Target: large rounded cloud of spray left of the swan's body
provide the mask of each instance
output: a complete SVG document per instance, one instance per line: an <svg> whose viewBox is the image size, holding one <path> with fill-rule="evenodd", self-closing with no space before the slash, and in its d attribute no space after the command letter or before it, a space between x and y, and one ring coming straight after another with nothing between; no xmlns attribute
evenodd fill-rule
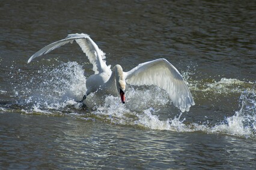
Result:
<svg viewBox="0 0 256 170"><path fill-rule="evenodd" d="M86 91L84 69L77 62L62 63L54 68L44 66L33 72L32 77L30 74L20 77L14 94L18 98L17 104L28 106L35 112L74 105ZM23 81L28 78L29 81Z"/></svg>

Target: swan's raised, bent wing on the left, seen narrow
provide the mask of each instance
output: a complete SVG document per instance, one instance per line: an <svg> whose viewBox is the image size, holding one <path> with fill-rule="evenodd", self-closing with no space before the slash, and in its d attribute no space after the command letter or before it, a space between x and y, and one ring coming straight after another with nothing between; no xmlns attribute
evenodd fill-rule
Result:
<svg viewBox="0 0 256 170"><path fill-rule="evenodd" d="M37 51L37 53L33 54L29 58L28 63L31 62L31 60L35 57L47 54L50 51L61 47L62 45L65 45L69 42L73 43L74 40L79 44L79 46L82 48L82 51L84 51L90 62L93 64L93 71L95 72L95 74L106 71L106 69L110 70L110 66L107 66L106 61L104 60L105 53L100 50L97 44L93 40L91 40L91 38L87 34L69 34L65 39L53 42L52 44L41 48L41 50Z"/></svg>

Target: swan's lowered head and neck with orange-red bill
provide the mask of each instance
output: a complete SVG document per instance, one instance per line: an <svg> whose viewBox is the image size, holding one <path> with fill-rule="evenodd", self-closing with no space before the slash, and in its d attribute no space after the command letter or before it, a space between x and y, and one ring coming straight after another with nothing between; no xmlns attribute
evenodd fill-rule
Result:
<svg viewBox="0 0 256 170"><path fill-rule="evenodd" d="M115 65L115 82L117 86L117 92L121 96L121 102L125 103L124 91L126 90L126 81L124 80L123 68L120 65Z"/></svg>

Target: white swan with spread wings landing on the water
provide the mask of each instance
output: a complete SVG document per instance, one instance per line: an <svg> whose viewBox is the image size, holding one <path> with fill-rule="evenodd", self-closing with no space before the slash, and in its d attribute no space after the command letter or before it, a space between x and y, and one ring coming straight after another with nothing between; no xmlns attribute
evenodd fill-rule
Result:
<svg viewBox="0 0 256 170"><path fill-rule="evenodd" d="M93 64L94 74L87 78L86 96L92 92L103 94L120 95L121 102L125 103L126 83L142 86L158 86L168 93L172 104L179 108L181 112L189 111L192 105L195 105L194 99L181 77L180 72L166 59L156 59L149 62L140 63L130 71L124 72L120 65L115 65L111 71L111 65L106 65L105 53L91 40L87 34L69 34L63 40L53 42L46 47L41 48L33 54L28 63L35 57L47 54L55 48L61 47L67 43L76 41L86 54L91 64Z"/></svg>

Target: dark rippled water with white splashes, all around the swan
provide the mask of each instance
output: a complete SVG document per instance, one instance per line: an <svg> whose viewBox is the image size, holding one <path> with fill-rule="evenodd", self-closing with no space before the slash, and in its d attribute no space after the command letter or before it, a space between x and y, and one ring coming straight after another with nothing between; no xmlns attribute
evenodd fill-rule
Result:
<svg viewBox="0 0 256 170"><path fill-rule="evenodd" d="M1 1L1 169L252 169L256 159L254 1ZM195 106L183 113L156 87L82 99L93 73L67 44L86 33L129 71L164 57Z"/></svg>

